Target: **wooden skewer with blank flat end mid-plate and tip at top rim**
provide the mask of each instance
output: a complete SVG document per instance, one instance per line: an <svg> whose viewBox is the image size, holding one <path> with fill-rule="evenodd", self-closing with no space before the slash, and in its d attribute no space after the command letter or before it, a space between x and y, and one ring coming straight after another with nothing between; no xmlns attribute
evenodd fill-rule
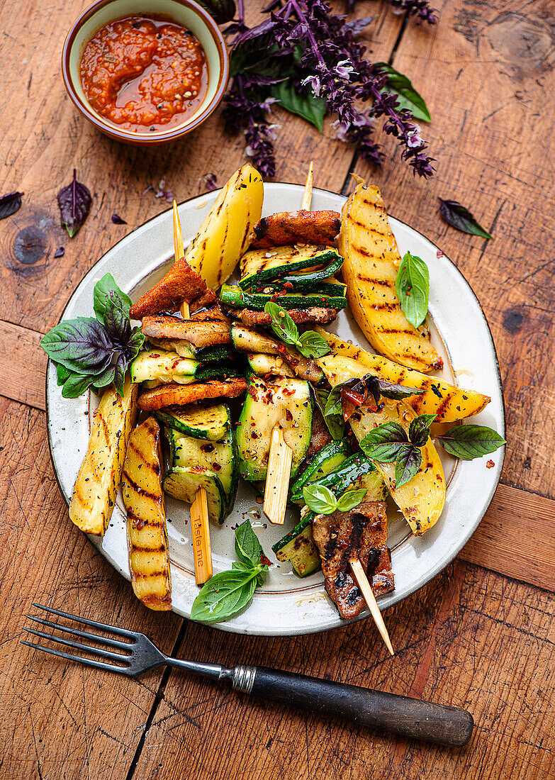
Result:
<svg viewBox="0 0 555 780"><path fill-rule="evenodd" d="M308 176L306 176L305 192L302 196L301 208L309 211L312 201L314 164L311 161ZM291 477L291 464L293 451L283 438L283 431L279 425L274 426L270 441L270 456L268 457L268 470L266 487L264 488L264 514L270 519L270 523L283 525L285 520L285 508L287 506L287 494L289 477Z"/></svg>

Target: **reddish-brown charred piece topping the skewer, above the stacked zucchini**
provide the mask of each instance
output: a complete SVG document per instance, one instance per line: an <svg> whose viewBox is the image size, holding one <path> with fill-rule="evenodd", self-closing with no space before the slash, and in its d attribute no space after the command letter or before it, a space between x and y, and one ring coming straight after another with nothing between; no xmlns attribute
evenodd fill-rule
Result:
<svg viewBox="0 0 555 780"><path fill-rule="evenodd" d="M341 215L337 211L281 211L256 223L249 249L297 243L330 246L340 229Z"/></svg>

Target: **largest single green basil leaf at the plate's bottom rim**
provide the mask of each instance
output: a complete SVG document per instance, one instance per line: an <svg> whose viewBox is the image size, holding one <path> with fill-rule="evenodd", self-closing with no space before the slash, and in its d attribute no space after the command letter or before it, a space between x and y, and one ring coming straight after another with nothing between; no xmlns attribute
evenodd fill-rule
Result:
<svg viewBox="0 0 555 780"><path fill-rule="evenodd" d="M258 573L259 568L237 568L210 577L193 601L191 619L211 622L236 615L253 597Z"/></svg>

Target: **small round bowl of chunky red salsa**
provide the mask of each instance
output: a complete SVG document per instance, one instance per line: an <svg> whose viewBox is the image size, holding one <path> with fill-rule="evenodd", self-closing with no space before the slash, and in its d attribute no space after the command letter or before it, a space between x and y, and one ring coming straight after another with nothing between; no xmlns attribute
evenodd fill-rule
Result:
<svg viewBox="0 0 555 780"><path fill-rule="evenodd" d="M65 87L111 137L160 144L197 127L221 101L228 55L193 0L101 0L65 41Z"/></svg>

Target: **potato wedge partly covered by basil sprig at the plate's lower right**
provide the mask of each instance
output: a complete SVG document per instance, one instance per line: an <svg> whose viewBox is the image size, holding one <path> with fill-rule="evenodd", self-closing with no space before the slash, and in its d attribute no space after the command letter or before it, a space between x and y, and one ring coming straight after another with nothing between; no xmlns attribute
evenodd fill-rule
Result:
<svg viewBox="0 0 555 780"><path fill-rule="evenodd" d="M416 417L405 401L384 399L384 407L373 412L369 406L360 406L349 418L356 438L361 441L369 431L384 423L400 424L408 432L408 426ZM445 503L445 475L440 456L429 438L422 448L419 470L401 488L395 488L395 464L373 461L384 477L391 498L405 516L415 536L422 536L440 518Z"/></svg>

